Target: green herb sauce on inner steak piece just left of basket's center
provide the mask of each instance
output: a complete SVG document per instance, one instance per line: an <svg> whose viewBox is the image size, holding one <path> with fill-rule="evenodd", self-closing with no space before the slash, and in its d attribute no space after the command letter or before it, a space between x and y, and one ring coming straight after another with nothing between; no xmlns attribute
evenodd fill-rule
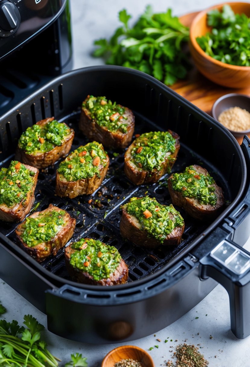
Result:
<svg viewBox="0 0 250 367"><path fill-rule="evenodd" d="M100 163L95 166L96 157ZM100 177L100 166L107 165L107 156L102 144L93 141L80 146L59 164L58 173L62 174L67 181L77 181L97 175Z"/></svg>

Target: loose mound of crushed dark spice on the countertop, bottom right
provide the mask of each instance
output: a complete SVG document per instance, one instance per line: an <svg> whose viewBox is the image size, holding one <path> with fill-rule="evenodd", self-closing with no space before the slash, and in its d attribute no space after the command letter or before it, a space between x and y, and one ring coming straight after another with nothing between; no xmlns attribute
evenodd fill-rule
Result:
<svg viewBox="0 0 250 367"><path fill-rule="evenodd" d="M167 367L207 367L209 364L194 345L177 345L174 357L177 359L175 363L168 361L166 363Z"/></svg>

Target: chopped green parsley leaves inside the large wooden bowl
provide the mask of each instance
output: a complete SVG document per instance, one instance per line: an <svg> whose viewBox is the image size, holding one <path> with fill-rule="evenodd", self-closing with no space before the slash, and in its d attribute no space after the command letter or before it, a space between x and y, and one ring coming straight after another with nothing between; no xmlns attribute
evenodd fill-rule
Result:
<svg viewBox="0 0 250 367"><path fill-rule="evenodd" d="M196 41L207 55L231 65L250 66L250 18L234 14L229 5L207 13L212 32Z"/></svg>

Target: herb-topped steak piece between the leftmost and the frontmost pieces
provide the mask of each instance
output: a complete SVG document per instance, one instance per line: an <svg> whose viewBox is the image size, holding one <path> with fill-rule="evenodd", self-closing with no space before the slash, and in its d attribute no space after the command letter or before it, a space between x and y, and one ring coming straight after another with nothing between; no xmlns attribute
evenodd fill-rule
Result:
<svg viewBox="0 0 250 367"><path fill-rule="evenodd" d="M56 255L72 237L76 219L52 204L37 211L16 228L16 236L23 249L38 262Z"/></svg>

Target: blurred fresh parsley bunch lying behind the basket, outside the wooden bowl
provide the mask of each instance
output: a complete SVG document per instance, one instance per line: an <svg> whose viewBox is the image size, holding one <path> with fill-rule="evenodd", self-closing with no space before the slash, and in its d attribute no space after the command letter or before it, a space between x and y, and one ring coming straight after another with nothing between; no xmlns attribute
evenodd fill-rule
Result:
<svg viewBox="0 0 250 367"><path fill-rule="evenodd" d="M188 40L189 30L172 16L171 9L153 14L151 6L147 6L132 28L128 25L130 18L125 9L121 10L122 26L109 41L96 40L95 45L99 48L93 55L103 57L107 64L153 75L166 85L184 78L189 64L182 46Z"/></svg>

